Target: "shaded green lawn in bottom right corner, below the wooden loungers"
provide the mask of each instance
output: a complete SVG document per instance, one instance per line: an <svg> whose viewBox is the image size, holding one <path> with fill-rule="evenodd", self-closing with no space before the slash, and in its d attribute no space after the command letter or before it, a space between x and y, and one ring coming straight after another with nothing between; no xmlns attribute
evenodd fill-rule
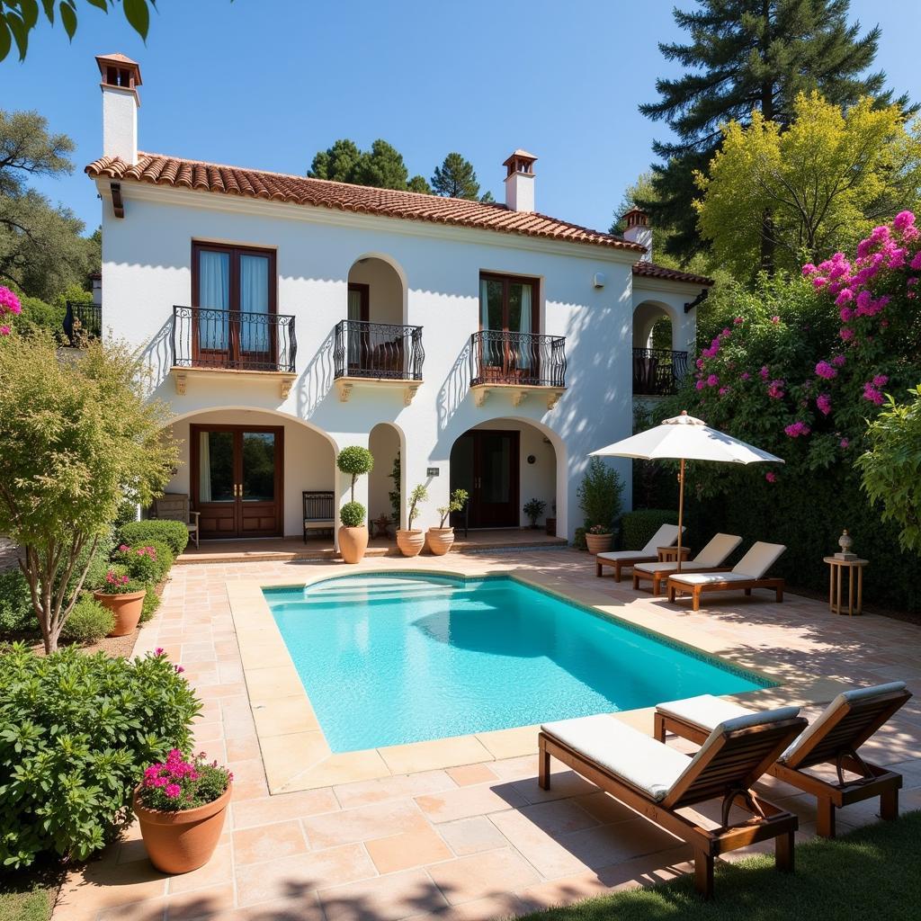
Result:
<svg viewBox="0 0 921 921"><path fill-rule="evenodd" d="M773 857L717 868L716 899L703 902L690 876L650 889L617 892L528 921L837 921L921 917L921 812L880 822L835 841L798 845L792 876Z"/></svg>

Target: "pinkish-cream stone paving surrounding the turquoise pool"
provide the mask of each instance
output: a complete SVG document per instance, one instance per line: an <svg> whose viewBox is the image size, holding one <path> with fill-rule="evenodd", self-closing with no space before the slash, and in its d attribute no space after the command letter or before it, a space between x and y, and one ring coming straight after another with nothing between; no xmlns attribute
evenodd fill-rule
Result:
<svg viewBox="0 0 921 921"><path fill-rule="evenodd" d="M496 748L476 764L406 774L331 778L331 786L269 794L227 583L303 581L318 568L338 575L393 568L304 562L177 566L157 619L135 651L164 647L204 701L196 741L227 761L234 799L215 856L184 876L157 873L136 827L70 875L54 921L477 921L521 914L689 869L689 850L670 834L554 764L550 791L537 787L531 753ZM725 593L693 613L594 577L586 554L551 550L450 554L402 561L401 569L477 574L515 568L575 597L602 593L606 610L753 668L764 662L784 684L764 704L807 704L814 717L846 684L903 679L921 686L921 629L787 595L744 600ZM237 614L239 618L239 612ZM650 711L624 717L651 733ZM528 743L530 744L530 743ZM678 744L678 743L676 743ZM533 742L536 750L536 739ZM904 774L903 810L921 808L921 697L863 750ZM772 778L763 793L796 812L799 836L814 833L810 798ZM839 813L838 828L877 821L877 802Z"/></svg>

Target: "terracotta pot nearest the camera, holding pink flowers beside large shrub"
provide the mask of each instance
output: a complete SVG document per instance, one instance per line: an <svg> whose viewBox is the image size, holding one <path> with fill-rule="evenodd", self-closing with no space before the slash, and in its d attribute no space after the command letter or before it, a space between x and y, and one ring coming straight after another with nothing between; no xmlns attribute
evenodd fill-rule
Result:
<svg viewBox="0 0 921 921"><path fill-rule="evenodd" d="M141 823L150 862L164 873L188 873L204 867L224 830L232 789L231 782L214 802L196 809L161 812L142 806L137 798L140 787L135 787L132 808Z"/></svg>

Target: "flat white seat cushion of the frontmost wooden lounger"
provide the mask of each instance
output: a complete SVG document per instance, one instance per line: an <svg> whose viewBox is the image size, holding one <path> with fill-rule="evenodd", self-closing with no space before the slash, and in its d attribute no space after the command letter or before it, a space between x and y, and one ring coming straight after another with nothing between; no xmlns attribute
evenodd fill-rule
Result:
<svg viewBox="0 0 921 921"><path fill-rule="evenodd" d="M691 764L686 754L604 715L545 723L541 729L621 777L653 802L664 799Z"/></svg>

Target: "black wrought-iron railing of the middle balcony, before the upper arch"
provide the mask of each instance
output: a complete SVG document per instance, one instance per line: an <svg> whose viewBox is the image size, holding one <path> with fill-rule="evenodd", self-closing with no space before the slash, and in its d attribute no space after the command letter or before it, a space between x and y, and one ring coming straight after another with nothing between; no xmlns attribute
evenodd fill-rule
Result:
<svg viewBox="0 0 921 921"><path fill-rule="evenodd" d="M422 327L341 320L332 345L336 378L422 380Z"/></svg>

